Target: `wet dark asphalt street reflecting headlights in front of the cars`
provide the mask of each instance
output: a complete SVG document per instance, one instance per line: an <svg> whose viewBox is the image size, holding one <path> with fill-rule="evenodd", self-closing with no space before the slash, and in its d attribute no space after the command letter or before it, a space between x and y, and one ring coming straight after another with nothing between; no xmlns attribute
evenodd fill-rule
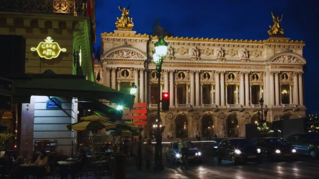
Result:
<svg viewBox="0 0 319 179"><path fill-rule="evenodd" d="M210 143L194 143L202 152L203 162L192 162L189 170L180 169L177 164L167 162L165 157L166 148L163 149L163 164L165 167L174 169L181 178L190 179L318 179L319 160L308 156L299 156L297 161L270 162L267 159L261 164L246 163L232 165L229 161L218 164L216 157L211 152Z"/></svg>

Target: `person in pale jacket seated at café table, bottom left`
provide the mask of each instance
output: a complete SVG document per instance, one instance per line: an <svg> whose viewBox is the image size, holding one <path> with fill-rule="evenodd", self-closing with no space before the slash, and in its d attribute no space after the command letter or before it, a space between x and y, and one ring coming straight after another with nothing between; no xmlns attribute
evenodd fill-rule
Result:
<svg viewBox="0 0 319 179"><path fill-rule="evenodd" d="M41 151L39 153L39 157L34 162L37 164L36 168L34 169L34 175L38 179L42 179L44 176L47 175L47 173L50 172L50 166L49 166L49 158L46 156L45 151Z"/></svg>

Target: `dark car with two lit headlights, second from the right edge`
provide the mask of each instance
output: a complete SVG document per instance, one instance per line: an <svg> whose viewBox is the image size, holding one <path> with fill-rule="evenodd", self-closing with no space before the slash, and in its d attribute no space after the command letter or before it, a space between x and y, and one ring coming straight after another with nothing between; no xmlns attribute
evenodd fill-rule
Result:
<svg viewBox="0 0 319 179"><path fill-rule="evenodd" d="M283 160L284 158L296 160L297 158L296 149L280 138L256 138L251 140L251 143L255 144L257 150L261 150L263 157L270 161Z"/></svg>

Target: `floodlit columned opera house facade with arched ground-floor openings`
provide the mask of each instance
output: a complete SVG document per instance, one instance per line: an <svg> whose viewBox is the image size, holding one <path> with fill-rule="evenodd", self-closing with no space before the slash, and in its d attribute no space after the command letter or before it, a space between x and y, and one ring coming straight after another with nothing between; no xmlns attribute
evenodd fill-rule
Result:
<svg viewBox="0 0 319 179"><path fill-rule="evenodd" d="M102 33L103 54L95 65L103 85L128 91L135 82L136 103L148 104L146 136L157 118L158 90L170 93L170 110L161 112L163 136L244 137L245 124L258 120L261 97L267 121L305 116L303 41L280 35L266 40L165 37L169 46L158 89L152 62L157 40L121 28Z"/></svg>

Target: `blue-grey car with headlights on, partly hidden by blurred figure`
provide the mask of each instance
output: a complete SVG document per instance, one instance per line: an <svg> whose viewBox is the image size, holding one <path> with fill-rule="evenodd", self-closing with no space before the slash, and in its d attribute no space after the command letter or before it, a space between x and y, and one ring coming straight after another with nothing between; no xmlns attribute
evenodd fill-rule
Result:
<svg viewBox="0 0 319 179"><path fill-rule="evenodd" d="M202 153L195 147L191 141L184 141L188 146L188 160L202 162ZM166 158L167 161L180 162L181 154L178 150L179 142L171 142L166 148Z"/></svg>

